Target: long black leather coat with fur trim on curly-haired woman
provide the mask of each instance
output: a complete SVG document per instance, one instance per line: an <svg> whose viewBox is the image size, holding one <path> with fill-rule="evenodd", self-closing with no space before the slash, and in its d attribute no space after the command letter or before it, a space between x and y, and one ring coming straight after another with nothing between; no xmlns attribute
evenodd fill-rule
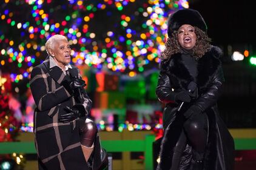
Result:
<svg viewBox="0 0 256 170"><path fill-rule="evenodd" d="M221 67L221 50L212 47L198 59L198 75L192 77L181 59L181 54L173 54L169 60L162 60L158 78L157 96L166 103L164 108L164 136L161 142L160 163L157 169L170 169L173 147L176 145L183 128L184 111L191 105L197 105L208 117L208 138L204 158L204 170L231 170L234 167L234 140L218 115L217 100L221 94L224 77ZM177 112L178 103L174 102L175 94L187 90L191 81L197 83L198 97L184 105ZM188 169L191 159L191 147L184 149L180 169Z"/></svg>

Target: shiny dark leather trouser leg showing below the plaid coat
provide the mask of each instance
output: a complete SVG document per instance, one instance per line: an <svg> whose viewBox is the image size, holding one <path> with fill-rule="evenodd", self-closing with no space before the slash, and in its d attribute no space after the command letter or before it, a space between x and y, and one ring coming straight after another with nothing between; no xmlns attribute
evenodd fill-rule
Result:
<svg viewBox="0 0 256 170"><path fill-rule="evenodd" d="M93 145L93 142L96 136L97 126L93 122L93 120L89 118L79 119L78 124L79 124L81 145L90 148Z"/></svg>

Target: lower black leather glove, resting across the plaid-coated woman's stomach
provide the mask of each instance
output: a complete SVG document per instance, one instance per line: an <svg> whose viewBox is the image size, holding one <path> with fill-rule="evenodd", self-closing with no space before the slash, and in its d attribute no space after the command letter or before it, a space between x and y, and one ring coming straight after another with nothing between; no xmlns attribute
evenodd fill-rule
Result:
<svg viewBox="0 0 256 170"><path fill-rule="evenodd" d="M87 116L86 109L82 104L76 104L72 108L70 108L69 106L66 106L64 110L67 111L67 114L62 114L59 117L59 122L62 122L62 123L72 122L78 117Z"/></svg>

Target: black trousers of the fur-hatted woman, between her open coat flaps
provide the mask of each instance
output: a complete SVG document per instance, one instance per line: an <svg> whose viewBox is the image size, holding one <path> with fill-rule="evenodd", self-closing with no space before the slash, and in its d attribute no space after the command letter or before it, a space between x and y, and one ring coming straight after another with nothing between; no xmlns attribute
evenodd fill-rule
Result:
<svg viewBox="0 0 256 170"><path fill-rule="evenodd" d="M180 138L173 149L172 168L179 169L180 158L187 143L192 146L192 159L195 161L203 161L204 152L207 143L207 116L199 114L192 116L191 119L184 122L183 130Z"/></svg>

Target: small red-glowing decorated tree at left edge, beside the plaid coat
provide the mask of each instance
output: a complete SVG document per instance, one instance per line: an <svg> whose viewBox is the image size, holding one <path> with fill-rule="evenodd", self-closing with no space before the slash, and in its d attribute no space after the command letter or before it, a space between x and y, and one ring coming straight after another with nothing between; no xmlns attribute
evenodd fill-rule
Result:
<svg viewBox="0 0 256 170"><path fill-rule="evenodd" d="M13 106L12 86L8 74L2 76L0 71L0 142L14 142L18 136L20 122L16 119ZM22 169L24 158L22 155L0 155L0 169Z"/></svg>

